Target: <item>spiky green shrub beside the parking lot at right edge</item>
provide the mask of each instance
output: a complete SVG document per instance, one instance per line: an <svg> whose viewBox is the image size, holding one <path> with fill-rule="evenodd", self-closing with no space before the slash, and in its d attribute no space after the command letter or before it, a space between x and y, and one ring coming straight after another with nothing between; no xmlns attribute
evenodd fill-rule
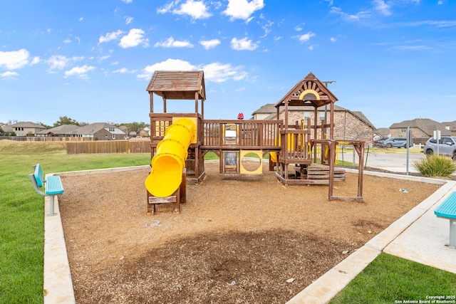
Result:
<svg viewBox="0 0 456 304"><path fill-rule="evenodd" d="M429 155L413 165L425 177L449 177L456 172L456 162L437 154Z"/></svg>

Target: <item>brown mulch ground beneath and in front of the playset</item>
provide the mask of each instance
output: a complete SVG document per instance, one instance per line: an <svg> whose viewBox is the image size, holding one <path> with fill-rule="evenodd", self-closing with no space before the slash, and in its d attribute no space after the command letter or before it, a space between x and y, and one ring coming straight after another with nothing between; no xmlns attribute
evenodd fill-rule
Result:
<svg viewBox="0 0 456 304"><path fill-rule="evenodd" d="M147 214L146 170L62 178L77 303L285 303L440 187L365 174L362 202L328 201L327 186L266 168L233 180L205 167L180 214ZM334 195L356 196L357 178Z"/></svg>

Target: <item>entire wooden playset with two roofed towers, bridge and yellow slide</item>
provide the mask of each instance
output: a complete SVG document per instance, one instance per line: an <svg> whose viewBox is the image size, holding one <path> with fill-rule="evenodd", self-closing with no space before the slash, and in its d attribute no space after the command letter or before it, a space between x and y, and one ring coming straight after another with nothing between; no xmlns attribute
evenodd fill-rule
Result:
<svg viewBox="0 0 456 304"><path fill-rule="evenodd" d="M219 174L253 177L262 174L263 157L269 153L269 170L283 184L328 184L328 199L362 201L363 166L358 169L356 196L333 196L334 181L345 180L345 170L336 168L338 145L352 145L363 164L364 142L333 139L333 104L337 98L314 74L309 73L276 103L276 120L204 120L206 100L204 72L160 71L152 75L150 95L151 172L145 181L147 209L173 203L179 211L184 203L186 182L204 179L204 155L219 157ZM153 95L163 101L163 112L154 112ZM167 100L195 100L193 113L167 112ZM289 107L313 106L309 118L289 124ZM317 109L329 106L329 123L318 124ZM280 117L283 117L280 119ZM327 132L328 131L328 132ZM244 166L254 155L259 166Z"/></svg>

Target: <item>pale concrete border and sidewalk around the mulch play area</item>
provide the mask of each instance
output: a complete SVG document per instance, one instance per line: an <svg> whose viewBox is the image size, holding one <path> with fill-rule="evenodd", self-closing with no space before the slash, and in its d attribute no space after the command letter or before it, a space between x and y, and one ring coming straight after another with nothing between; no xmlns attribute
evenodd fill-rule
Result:
<svg viewBox="0 0 456 304"><path fill-rule="evenodd" d="M149 170L150 166L98 169L81 172L65 172L59 175L88 175L126 170ZM350 169L347 169L350 171ZM357 171L356 171L357 172ZM417 182L442 184L434 194L415 206L407 214L388 226L387 229L368 241L363 247L351 253L346 259L314 281L307 288L289 300L296 303L327 303L341 291L381 252L400 256L411 261L456 273L456 250L445 247L449 240L449 221L437 219L434 210L451 193L456 191L456 182L403 174L366 172L381 177L410 179ZM61 224L58 200L56 216L48 216L49 200L45 199L44 219L44 304L76 303L71 281L70 267L66 253L65 239Z"/></svg>

